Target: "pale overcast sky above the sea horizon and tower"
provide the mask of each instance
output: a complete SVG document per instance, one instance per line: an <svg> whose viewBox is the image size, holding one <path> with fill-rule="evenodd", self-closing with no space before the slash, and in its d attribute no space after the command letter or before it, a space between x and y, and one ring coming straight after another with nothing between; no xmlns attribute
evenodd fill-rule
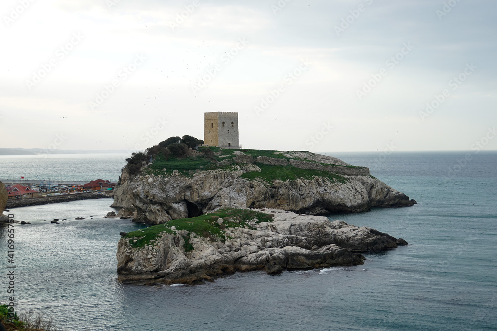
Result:
<svg viewBox="0 0 497 331"><path fill-rule="evenodd" d="M2 0L0 147L497 150L495 0Z"/></svg>

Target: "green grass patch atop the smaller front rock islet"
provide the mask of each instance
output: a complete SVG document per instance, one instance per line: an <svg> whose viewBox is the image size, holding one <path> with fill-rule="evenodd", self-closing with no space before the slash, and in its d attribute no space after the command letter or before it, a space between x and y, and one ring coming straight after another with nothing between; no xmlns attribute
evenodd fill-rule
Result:
<svg viewBox="0 0 497 331"><path fill-rule="evenodd" d="M223 224L217 222L218 218L223 219ZM152 239L160 237L164 232L175 233L172 230L174 226L176 230L186 230L199 237L210 238L212 240L220 239L224 242L226 240L225 229L245 226L250 228L246 222L253 219L257 219L257 223L270 222L272 221L272 216L251 209L223 208L214 213L192 218L173 219L164 224L129 232L125 238L129 238L129 243L132 247L144 247L145 245L149 245ZM134 242L135 240L136 242ZM184 247L185 251L193 250L189 238L185 239Z"/></svg>

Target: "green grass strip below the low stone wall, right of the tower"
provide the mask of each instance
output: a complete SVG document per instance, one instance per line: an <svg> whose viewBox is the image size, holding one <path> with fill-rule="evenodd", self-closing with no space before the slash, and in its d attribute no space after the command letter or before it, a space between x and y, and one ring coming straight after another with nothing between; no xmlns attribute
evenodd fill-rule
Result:
<svg viewBox="0 0 497 331"><path fill-rule="evenodd" d="M273 183L275 180L287 181L295 180L297 178L313 179L316 176L328 178L331 182L345 183L346 178L339 175L330 173L327 170L312 170L312 169L300 169L292 165L281 166L281 165L268 165L257 163L257 166L261 171L250 171L242 174L240 177L255 180L260 178L267 183Z"/></svg>

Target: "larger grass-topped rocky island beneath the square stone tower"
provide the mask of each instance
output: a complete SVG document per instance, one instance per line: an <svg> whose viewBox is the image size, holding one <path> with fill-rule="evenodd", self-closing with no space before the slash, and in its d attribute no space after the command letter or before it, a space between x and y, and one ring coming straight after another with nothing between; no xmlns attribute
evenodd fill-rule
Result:
<svg viewBox="0 0 497 331"><path fill-rule="evenodd" d="M366 167L310 152L203 147L184 159L134 158L122 171L112 207L121 208L119 216L146 224L221 207L323 215L415 203Z"/></svg>

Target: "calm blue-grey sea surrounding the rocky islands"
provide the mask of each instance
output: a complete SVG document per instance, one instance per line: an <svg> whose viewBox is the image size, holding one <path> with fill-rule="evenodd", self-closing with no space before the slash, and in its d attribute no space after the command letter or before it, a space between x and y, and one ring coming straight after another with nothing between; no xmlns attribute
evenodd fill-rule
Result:
<svg viewBox="0 0 497 331"><path fill-rule="evenodd" d="M112 210L108 198L12 209L32 224L15 227L14 264L7 263L0 229L0 268L5 274L7 265L17 267L18 310L52 316L59 330L497 330L497 153L470 153L470 161L458 163L465 154L333 154L370 166L372 175L418 202L330 216L409 242L366 255L364 265L237 273L201 286L122 285L119 232L143 226L104 219ZM124 162L111 159L57 156L39 172L114 179ZM28 174L31 162L36 156L0 156L0 178ZM58 168L61 162L71 171ZM49 224L53 218L68 221Z"/></svg>

